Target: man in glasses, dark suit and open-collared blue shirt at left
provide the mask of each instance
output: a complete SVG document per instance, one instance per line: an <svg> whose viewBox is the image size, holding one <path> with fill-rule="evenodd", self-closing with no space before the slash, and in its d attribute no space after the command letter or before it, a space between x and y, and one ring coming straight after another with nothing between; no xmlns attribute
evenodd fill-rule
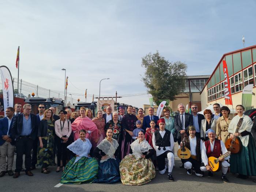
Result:
<svg viewBox="0 0 256 192"><path fill-rule="evenodd" d="M23 164L23 153L25 152L25 172L28 176L33 176L31 172L31 150L33 140L37 137L38 122L37 117L31 114L31 105L23 105L23 113L14 116L11 128L12 139L16 139L16 169L14 178L19 177Z"/></svg>

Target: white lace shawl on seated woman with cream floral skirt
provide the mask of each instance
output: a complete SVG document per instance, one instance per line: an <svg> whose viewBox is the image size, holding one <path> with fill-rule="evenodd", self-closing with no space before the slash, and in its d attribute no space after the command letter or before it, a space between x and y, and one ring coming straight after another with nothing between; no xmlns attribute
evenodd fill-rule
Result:
<svg viewBox="0 0 256 192"><path fill-rule="evenodd" d="M132 149L132 155L134 155L136 159L139 159L141 155L143 155L142 153L152 149L146 139L144 139L142 142L140 142L139 139L136 139L134 142L132 142L132 144L130 144L130 146Z"/></svg>

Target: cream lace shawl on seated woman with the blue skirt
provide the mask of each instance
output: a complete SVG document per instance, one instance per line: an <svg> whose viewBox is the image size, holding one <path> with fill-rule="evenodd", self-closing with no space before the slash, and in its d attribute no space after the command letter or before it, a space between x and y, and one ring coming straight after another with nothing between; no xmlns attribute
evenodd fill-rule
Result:
<svg viewBox="0 0 256 192"><path fill-rule="evenodd" d="M108 141L108 139L103 139L102 142L98 144L98 148L102 150L106 155L108 155L107 159L102 159L101 162L107 161L108 159L116 159L114 154L119 146L116 139L112 139L112 143Z"/></svg>

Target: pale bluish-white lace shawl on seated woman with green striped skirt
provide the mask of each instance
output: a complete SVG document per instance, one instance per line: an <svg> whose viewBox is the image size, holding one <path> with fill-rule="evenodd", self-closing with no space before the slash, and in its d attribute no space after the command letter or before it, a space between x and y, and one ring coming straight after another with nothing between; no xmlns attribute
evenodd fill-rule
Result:
<svg viewBox="0 0 256 192"><path fill-rule="evenodd" d="M82 157L88 157L91 149L91 142L89 141L89 139L85 139L85 141L78 139L75 142L71 143L67 148L76 155L79 155L78 157L76 157L76 160L74 162L76 163Z"/></svg>

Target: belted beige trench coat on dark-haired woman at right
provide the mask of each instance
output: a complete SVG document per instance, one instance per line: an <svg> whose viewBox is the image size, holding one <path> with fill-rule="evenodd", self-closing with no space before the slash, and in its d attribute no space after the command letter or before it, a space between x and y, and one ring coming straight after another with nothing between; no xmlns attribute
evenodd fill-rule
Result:
<svg viewBox="0 0 256 192"><path fill-rule="evenodd" d="M217 120L217 128L216 128L216 134L217 137L221 137L221 140L223 143L225 143L229 139L229 123L231 122L231 118L228 118L227 121L225 121L224 116L221 116Z"/></svg>

